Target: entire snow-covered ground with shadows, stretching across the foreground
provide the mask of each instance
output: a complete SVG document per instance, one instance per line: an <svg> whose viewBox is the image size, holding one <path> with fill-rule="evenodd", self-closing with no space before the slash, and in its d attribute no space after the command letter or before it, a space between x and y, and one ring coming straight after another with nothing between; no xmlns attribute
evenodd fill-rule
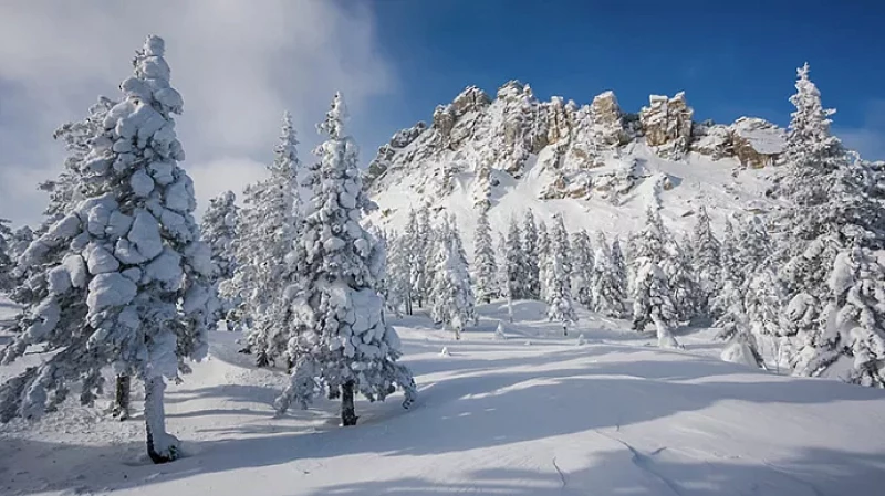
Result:
<svg viewBox="0 0 885 496"><path fill-rule="evenodd" d="M0 304L0 320L11 307ZM419 402L336 404L273 418L284 377L216 333L210 359L169 388L187 456L155 466L140 416L65 405L0 426L0 494L877 495L885 393L720 361L710 331L658 350L650 334L581 313L573 335L543 307L480 307L464 340L420 315L395 319ZM509 339L494 338L498 318ZM577 334L585 345L579 346ZM2 338L0 338L2 340ZM440 355L446 347L449 356ZM28 357L37 359L35 357ZM0 379L11 369L0 367ZM140 398L136 394L136 400Z"/></svg>

